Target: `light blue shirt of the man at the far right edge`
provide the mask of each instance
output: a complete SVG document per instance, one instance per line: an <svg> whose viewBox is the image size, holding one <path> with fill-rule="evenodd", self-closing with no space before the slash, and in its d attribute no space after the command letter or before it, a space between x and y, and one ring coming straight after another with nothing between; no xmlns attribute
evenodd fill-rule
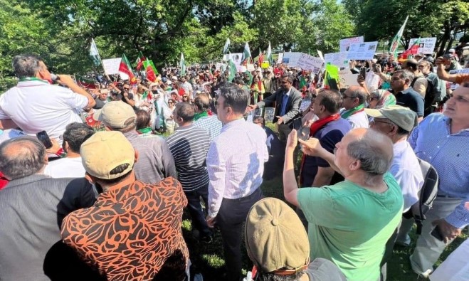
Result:
<svg viewBox="0 0 469 281"><path fill-rule="evenodd" d="M438 194L461 198L446 221L456 228L468 226L469 211L464 203L469 201L469 129L451 134L450 118L433 113L413 129L409 143L418 158L438 171Z"/></svg>

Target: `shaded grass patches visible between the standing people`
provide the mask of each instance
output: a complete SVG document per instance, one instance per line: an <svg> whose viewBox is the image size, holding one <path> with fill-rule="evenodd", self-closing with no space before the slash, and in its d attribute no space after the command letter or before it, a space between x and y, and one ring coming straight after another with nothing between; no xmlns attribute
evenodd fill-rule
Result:
<svg viewBox="0 0 469 281"><path fill-rule="evenodd" d="M270 129L277 132L273 124L268 124ZM300 159L300 158L299 158ZM281 172L279 176L275 177L270 181L263 181L260 188L263 191L265 197L275 197L281 200L283 198L283 183ZM210 244L199 243L199 240L194 238L194 235L198 235L196 230L194 231L191 227L191 221L189 213L184 212L184 221L182 223L183 235L186 240L187 246L189 247L189 253L191 257L191 263L196 267L196 272L200 272L204 276L205 281L221 280L223 272L225 272L223 266L225 262L223 260L223 245L221 235L219 232L214 233L214 241ZM413 252L416 245L416 233L415 228L411 231L412 243L410 247L403 248L396 245L393 250L391 260L387 265L387 280L389 281L413 281L419 280L418 276L411 270L409 263L409 256ZM440 265L448 255L458 247L465 239L469 238L467 233L457 238L451 245L449 245L440 257L440 260L436 265ZM246 275L248 270L251 270L252 263L246 254L244 248L244 242L241 245L241 251L243 253L243 273Z"/></svg>

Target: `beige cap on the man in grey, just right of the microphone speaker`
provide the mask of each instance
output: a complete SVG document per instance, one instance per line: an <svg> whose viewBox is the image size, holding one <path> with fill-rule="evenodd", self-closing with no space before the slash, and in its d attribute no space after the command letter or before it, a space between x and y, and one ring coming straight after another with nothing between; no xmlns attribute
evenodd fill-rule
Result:
<svg viewBox="0 0 469 281"><path fill-rule="evenodd" d="M112 129L123 129L135 124L137 115L134 109L122 101L107 102L95 120L103 122Z"/></svg>

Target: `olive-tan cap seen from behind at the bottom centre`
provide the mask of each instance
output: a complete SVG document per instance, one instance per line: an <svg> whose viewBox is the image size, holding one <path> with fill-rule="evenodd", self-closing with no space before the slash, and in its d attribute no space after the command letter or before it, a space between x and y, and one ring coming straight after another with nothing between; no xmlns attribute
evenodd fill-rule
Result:
<svg viewBox="0 0 469 281"><path fill-rule="evenodd" d="M263 272L295 274L310 262L305 227L295 211L277 198L264 198L251 207L245 231L248 256Z"/></svg>

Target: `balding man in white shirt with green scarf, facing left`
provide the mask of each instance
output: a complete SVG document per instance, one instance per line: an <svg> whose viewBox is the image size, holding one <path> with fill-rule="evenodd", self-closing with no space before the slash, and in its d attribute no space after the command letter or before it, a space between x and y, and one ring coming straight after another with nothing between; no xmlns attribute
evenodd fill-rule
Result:
<svg viewBox="0 0 469 281"><path fill-rule="evenodd" d="M368 117L364 112L367 91L360 86L350 86L342 95L343 102L340 117L347 119L354 128L367 128Z"/></svg>

